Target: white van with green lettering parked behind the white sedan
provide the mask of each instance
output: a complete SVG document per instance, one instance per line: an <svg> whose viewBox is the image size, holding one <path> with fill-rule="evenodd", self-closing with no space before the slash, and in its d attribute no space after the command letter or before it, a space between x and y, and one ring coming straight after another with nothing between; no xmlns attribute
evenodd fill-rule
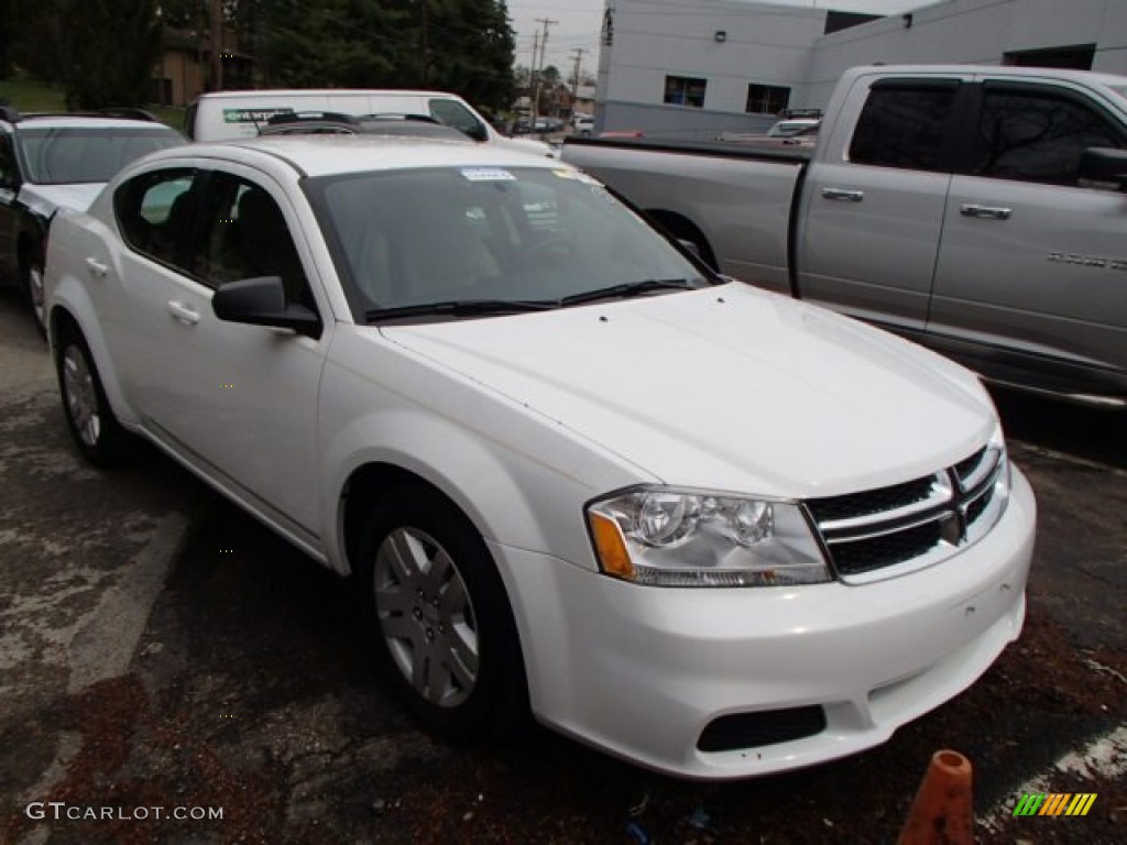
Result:
<svg viewBox="0 0 1127 845"><path fill-rule="evenodd" d="M184 133L193 141L254 137L274 115L294 112L336 112L346 115L427 115L461 130L474 141L540 155L552 149L532 139L509 139L497 132L469 103L445 91L399 89L266 89L204 94L188 106Z"/></svg>

